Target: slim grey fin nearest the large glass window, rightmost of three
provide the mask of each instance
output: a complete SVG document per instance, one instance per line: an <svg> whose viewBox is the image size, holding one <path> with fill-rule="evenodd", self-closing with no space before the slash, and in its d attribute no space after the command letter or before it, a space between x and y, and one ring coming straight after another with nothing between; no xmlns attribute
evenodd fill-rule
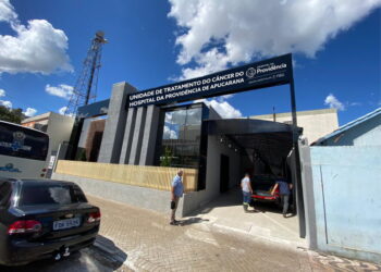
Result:
<svg viewBox="0 0 381 272"><path fill-rule="evenodd" d="M159 125L160 108L150 104L147 107L146 124L140 151L140 165L152 165L156 148L156 138Z"/></svg>

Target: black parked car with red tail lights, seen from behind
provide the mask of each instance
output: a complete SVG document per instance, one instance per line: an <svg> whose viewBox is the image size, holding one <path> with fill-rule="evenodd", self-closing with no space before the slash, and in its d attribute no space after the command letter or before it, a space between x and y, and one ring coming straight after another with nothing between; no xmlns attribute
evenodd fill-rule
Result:
<svg viewBox="0 0 381 272"><path fill-rule="evenodd" d="M0 178L0 263L56 260L90 246L100 224L74 183Z"/></svg>

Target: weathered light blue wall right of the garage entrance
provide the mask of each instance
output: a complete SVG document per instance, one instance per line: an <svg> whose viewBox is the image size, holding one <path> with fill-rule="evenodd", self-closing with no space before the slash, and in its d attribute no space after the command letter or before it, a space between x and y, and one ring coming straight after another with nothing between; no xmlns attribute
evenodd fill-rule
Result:
<svg viewBox="0 0 381 272"><path fill-rule="evenodd" d="M381 146L311 147L310 157L312 180L304 185L314 191L307 207L312 244L381 262Z"/></svg>

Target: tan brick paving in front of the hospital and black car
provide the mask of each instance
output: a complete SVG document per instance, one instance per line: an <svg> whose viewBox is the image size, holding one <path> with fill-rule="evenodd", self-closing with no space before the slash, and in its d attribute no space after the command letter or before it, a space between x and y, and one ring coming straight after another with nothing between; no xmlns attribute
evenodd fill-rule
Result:
<svg viewBox="0 0 381 272"><path fill-rule="evenodd" d="M101 239L112 240L118 251L126 254L124 264L134 271L381 271L374 264L228 231L199 217L172 226L161 213L93 196L88 199L102 212L98 246L108 250Z"/></svg>

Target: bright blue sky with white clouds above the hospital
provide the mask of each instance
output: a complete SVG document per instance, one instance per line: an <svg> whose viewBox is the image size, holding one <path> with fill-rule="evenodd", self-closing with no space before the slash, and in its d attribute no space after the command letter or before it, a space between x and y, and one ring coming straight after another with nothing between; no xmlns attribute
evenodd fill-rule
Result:
<svg viewBox="0 0 381 272"><path fill-rule="evenodd" d="M381 1L316 2L0 0L0 102L59 112L102 29L97 100L118 82L144 90L293 52L297 110L334 107L345 124L381 107ZM209 103L226 118L286 112L290 94L281 86Z"/></svg>

